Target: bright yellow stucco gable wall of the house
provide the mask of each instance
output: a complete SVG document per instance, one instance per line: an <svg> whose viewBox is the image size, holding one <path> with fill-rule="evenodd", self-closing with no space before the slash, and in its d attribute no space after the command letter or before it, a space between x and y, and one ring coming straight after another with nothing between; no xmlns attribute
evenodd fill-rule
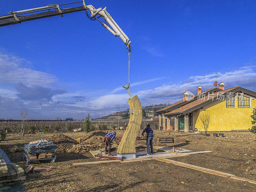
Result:
<svg viewBox="0 0 256 192"><path fill-rule="evenodd" d="M193 112L194 129L204 131L200 121L202 111L209 111L212 121L208 131L231 131L231 130L248 130L252 127L251 115L252 108L256 107L256 99L251 98L251 108L226 108L226 101L217 101L202 109Z"/></svg>

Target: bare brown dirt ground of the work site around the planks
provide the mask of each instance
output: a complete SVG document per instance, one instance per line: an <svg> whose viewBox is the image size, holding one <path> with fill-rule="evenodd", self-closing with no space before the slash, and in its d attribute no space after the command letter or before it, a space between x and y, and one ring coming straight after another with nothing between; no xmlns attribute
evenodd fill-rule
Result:
<svg viewBox="0 0 256 192"><path fill-rule="evenodd" d="M117 137L124 131L116 131ZM169 137L168 132L155 130L154 144L175 146L192 151L211 150L212 153L194 154L190 156L170 158L216 171L234 174L238 177L256 180L256 141L250 132L223 132L224 138L214 138L212 133L205 136L200 133L180 134L171 132L174 143L158 143L159 137ZM84 136L84 132L66 132L73 139ZM11 153L10 149L17 145L22 149L24 143L53 134L8 134L0 147L6 152L13 163L27 168L20 160L23 151ZM145 140L136 141L138 144ZM132 163L106 163L73 166L73 163L98 161L90 153L76 154L61 152L56 163L40 161L30 163L38 167L54 167L50 172L34 172L21 181L26 192L36 191L74 191L74 192L114 192L114 191L145 191L145 192L236 192L256 191L256 185L231 178L225 178L200 172L174 164L157 160Z"/></svg>

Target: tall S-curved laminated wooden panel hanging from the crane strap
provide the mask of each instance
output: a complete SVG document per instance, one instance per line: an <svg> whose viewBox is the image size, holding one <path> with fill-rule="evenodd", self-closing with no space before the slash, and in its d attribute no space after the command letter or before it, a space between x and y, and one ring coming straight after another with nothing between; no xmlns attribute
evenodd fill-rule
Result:
<svg viewBox="0 0 256 192"><path fill-rule="evenodd" d="M124 132L123 138L117 148L117 153L136 153L135 141L140 130L140 125L142 121L142 109L140 100L137 95L128 99L130 109L130 120L128 126Z"/></svg>

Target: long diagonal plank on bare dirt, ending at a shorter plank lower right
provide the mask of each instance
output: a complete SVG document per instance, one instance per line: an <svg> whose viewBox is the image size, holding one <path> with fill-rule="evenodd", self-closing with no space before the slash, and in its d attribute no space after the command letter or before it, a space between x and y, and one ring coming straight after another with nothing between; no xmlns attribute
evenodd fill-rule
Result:
<svg viewBox="0 0 256 192"><path fill-rule="evenodd" d="M219 175L219 176L222 176L222 177L231 177L231 176L235 176L235 175L233 175L233 174L224 173L224 172L219 172L219 171L215 171L215 170L212 170L212 169L206 169L206 168L204 168L204 167L198 167L198 166L191 165L191 164L181 163L181 162L179 162L179 161L173 161L173 160L166 159L166 158L163 158L163 159L161 159L161 160L164 161L164 162L166 162L166 163L172 163L172 164L179 165L179 166L182 166L182 167L187 167L187 168L189 168L189 169L194 169L194 170L197 170L197 171L202 171L202 172L206 172L206 173L211 173L211 174Z"/></svg>

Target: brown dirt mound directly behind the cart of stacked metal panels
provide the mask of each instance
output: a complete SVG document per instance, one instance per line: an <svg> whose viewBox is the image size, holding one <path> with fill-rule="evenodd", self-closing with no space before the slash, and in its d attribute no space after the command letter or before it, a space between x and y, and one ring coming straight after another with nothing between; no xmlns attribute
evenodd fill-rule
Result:
<svg viewBox="0 0 256 192"><path fill-rule="evenodd" d="M46 140L52 141L54 144L57 145L59 151L67 151L67 149L70 149L73 147L73 145L76 145L76 140L64 135L64 134L55 134L51 137L45 138Z"/></svg>

